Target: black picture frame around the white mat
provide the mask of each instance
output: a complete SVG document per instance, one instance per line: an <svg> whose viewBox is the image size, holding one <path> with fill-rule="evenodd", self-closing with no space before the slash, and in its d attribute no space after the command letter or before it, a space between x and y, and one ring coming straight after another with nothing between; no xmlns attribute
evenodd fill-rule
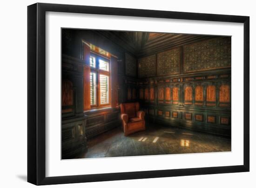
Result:
<svg viewBox="0 0 256 188"><path fill-rule="evenodd" d="M243 23L243 165L46 177L46 12ZM249 171L249 16L36 3L27 7L27 181L35 185Z"/></svg>

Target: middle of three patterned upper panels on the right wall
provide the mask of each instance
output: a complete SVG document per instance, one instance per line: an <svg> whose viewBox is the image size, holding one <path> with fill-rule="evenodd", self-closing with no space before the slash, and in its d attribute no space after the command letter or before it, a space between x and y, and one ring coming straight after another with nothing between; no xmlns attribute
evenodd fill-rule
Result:
<svg viewBox="0 0 256 188"><path fill-rule="evenodd" d="M157 54L157 75L180 73L180 48L174 48Z"/></svg>

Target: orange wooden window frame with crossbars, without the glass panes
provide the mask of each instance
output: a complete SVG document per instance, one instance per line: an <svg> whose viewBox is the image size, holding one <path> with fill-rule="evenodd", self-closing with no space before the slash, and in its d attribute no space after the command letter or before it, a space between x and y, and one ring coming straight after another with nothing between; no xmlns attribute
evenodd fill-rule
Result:
<svg viewBox="0 0 256 188"><path fill-rule="evenodd" d="M90 57L93 56L95 58L95 67L90 66L90 73L96 74L96 102L95 104L91 104L91 108L99 108L99 107L108 107L111 106L111 62L110 59L104 57L101 54L97 54L93 51L90 52ZM108 71L100 69L100 60L104 60L108 62ZM101 104L101 87L100 87L100 75L108 76L108 103Z"/></svg>

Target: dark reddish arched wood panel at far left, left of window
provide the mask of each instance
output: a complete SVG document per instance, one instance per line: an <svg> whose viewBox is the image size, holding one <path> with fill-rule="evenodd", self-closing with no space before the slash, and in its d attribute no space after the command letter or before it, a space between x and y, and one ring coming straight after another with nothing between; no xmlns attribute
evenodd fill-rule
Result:
<svg viewBox="0 0 256 188"><path fill-rule="evenodd" d="M73 105L73 84L69 80L62 81L62 106Z"/></svg>

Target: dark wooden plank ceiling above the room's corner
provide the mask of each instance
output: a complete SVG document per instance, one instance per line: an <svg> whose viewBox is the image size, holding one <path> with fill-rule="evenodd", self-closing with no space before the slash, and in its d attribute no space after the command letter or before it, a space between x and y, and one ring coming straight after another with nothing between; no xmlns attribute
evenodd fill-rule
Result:
<svg viewBox="0 0 256 188"><path fill-rule="evenodd" d="M213 36L195 34L171 34L150 32L97 31L135 57L156 54L172 47L179 47Z"/></svg>

